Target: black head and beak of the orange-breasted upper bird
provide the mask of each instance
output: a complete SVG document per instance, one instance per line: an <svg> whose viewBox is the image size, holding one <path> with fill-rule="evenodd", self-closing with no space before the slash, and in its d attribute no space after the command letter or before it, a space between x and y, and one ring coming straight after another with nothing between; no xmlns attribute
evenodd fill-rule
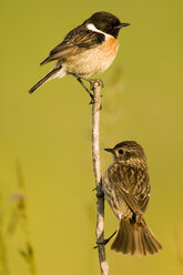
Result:
<svg viewBox="0 0 183 275"><path fill-rule="evenodd" d="M121 28L130 26L129 23L121 23L115 16L105 11L95 12L84 23L94 24L98 30L111 34L114 38L118 37Z"/></svg>

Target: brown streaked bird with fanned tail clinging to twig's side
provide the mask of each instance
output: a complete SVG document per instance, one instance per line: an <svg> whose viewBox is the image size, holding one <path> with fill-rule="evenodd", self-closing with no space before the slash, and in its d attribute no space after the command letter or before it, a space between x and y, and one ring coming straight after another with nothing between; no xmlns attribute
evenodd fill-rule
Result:
<svg viewBox="0 0 183 275"><path fill-rule="evenodd" d="M111 248L123 254L155 254L162 249L144 220L150 200L146 156L135 141L124 141L113 149L113 163L108 167L102 189L120 226Z"/></svg>

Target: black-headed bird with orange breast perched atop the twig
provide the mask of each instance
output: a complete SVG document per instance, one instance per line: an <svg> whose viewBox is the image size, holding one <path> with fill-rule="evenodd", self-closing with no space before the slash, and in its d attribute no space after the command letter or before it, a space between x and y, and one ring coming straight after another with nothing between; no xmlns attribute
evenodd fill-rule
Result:
<svg viewBox="0 0 183 275"><path fill-rule="evenodd" d="M113 62L119 42L119 31L130 26L109 12L95 12L82 24L70 31L41 62L41 65L57 60L54 68L29 92L32 93L44 82L67 74L74 75L84 86L82 79L91 82L92 75L105 71Z"/></svg>

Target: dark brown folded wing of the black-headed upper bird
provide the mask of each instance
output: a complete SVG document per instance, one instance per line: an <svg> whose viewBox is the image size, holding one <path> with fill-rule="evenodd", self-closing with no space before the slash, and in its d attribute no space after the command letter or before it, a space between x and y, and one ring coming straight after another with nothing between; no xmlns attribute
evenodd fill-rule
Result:
<svg viewBox="0 0 183 275"><path fill-rule="evenodd" d="M70 31L64 40L58 44L41 65L53 60L63 62L69 55L78 54L85 49L91 49L104 41L104 34L90 31L85 26L79 26Z"/></svg>

